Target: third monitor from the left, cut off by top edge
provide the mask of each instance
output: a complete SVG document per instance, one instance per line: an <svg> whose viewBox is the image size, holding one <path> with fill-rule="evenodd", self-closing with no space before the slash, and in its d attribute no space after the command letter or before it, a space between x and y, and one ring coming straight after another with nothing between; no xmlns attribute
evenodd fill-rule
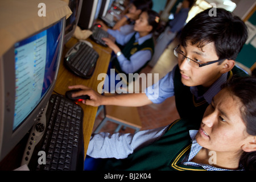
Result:
<svg viewBox="0 0 256 182"><path fill-rule="evenodd" d="M102 0L83 1L78 26L90 29L100 14Z"/></svg>

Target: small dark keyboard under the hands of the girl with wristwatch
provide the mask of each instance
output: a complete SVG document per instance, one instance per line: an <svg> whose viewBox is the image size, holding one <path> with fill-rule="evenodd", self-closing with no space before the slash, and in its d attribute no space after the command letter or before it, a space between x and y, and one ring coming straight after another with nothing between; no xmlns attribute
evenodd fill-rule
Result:
<svg viewBox="0 0 256 182"><path fill-rule="evenodd" d="M92 35L90 35L90 38L92 38L97 44L107 47L102 38L108 38L109 33L99 28L97 24L94 24L92 28L90 28L90 30L92 31Z"/></svg>

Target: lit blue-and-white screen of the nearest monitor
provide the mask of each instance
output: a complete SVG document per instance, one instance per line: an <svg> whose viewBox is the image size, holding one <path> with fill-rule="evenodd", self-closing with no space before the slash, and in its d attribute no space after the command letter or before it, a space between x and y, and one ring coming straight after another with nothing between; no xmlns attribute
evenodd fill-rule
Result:
<svg viewBox="0 0 256 182"><path fill-rule="evenodd" d="M60 31L61 23L57 23L14 45L16 80L13 130L34 110L54 80Z"/></svg>

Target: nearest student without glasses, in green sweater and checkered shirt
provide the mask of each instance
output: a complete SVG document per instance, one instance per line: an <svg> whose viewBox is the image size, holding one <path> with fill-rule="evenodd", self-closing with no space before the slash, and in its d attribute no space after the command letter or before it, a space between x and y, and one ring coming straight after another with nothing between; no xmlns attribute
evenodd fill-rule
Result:
<svg viewBox="0 0 256 182"><path fill-rule="evenodd" d="M87 155L97 163L85 163L85 169L255 171L255 103L256 78L232 79L214 96L202 120L178 119L135 134L93 134Z"/></svg>

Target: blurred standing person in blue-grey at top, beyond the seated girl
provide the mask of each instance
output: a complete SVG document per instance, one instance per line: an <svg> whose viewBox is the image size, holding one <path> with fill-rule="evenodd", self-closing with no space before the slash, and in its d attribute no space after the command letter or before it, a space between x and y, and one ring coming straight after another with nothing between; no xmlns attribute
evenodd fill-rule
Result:
<svg viewBox="0 0 256 182"><path fill-rule="evenodd" d="M170 44L170 42L176 37L177 32L184 27L185 21L188 18L188 12L193 6L194 2L195 0L184 0L181 7L176 10L174 19L168 22L164 32L156 40L155 53L149 63L151 67L154 67L168 44Z"/></svg>

